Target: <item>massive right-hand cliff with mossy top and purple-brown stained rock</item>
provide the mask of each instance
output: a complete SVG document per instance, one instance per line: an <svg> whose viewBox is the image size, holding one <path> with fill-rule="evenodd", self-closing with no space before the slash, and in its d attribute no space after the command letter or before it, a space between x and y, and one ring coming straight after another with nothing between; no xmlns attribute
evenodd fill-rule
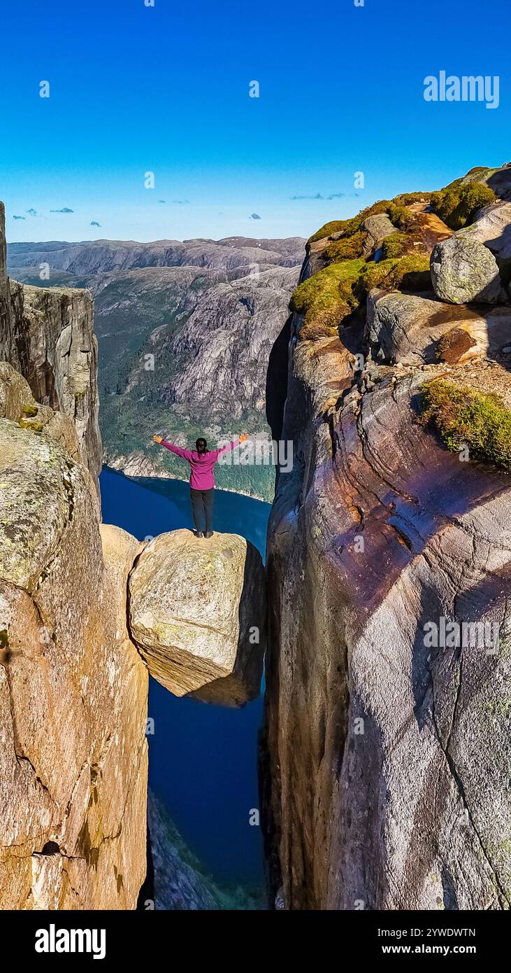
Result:
<svg viewBox="0 0 511 973"><path fill-rule="evenodd" d="M509 168L474 173L433 194L436 215L424 194L378 204L394 233L376 263L366 214L316 234L289 373L282 349L270 359L294 463L268 532L261 778L288 909L510 908L506 268L498 306L432 288L438 251L477 218L466 187L509 198Z"/></svg>

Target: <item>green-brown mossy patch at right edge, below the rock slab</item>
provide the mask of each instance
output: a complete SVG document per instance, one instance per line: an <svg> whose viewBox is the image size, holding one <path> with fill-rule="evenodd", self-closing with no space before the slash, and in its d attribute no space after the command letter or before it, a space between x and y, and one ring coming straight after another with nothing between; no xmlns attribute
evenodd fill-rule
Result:
<svg viewBox="0 0 511 973"><path fill-rule="evenodd" d="M511 470L511 411L498 395L433 378L422 387L421 406L448 450L467 446L474 459Z"/></svg>

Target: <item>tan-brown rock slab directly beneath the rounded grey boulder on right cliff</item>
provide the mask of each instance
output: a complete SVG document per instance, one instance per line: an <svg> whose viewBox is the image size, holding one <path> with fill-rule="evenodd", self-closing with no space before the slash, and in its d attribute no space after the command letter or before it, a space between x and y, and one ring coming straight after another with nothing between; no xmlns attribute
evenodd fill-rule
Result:
<svg viewBox="0 0 511 973"><path fill-rule="evenodd" d="M503 353L511 344L511 307L448 305L421 295L373 290L365 337L381 361L464 363Z"/></svg>

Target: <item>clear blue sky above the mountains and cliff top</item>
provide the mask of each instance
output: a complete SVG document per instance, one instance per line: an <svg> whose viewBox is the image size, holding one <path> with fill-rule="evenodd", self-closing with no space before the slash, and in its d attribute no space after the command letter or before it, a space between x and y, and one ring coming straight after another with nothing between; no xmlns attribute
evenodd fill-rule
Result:
<svg viewBox="0 0 511 973"><path fill-rule="evenodd" d="M507 162L507 15L507 0L6 4L8 239L309 235L375 198ZM426 103L424 79L442 69L498 75L499 107Z"/></svg>

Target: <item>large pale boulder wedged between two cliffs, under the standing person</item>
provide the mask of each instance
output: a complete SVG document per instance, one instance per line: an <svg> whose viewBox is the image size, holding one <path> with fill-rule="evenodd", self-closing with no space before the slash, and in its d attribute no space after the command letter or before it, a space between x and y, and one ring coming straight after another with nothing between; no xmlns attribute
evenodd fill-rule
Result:
<svg viewBox="0 0 511 973"><path fill-rule="evenodd" d="M238 534L160 534L129 578L131 637L175 696L243 705L259 692L265 644L264 568Z"/></svg>

